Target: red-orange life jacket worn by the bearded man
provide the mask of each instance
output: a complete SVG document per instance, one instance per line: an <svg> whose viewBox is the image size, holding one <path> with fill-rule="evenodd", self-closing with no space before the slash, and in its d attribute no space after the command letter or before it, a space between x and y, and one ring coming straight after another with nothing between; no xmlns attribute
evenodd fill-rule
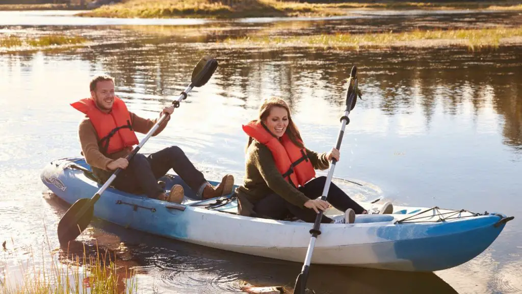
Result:
<svg viewBox="0 0 522 294"><path fill-rule="evenodd" d="M109 113L98 109L92 98L81 99L71 106L84 112L91 120L98 138L101 138L98 145L102 153L111 154L127 146L139 144L131 126L131 114L120 98L114 97L114 104Z"/></svg>

